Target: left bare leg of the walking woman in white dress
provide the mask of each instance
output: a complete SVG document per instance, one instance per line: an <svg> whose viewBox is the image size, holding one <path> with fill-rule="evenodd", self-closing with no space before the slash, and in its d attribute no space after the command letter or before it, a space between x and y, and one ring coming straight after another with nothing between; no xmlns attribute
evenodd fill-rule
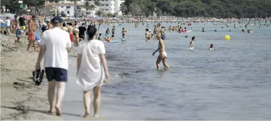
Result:
<svg viewBox="0 0 271 121"><path fill-rule="evenodd" d="M84 118L87 118L90 115L90 92L91 91L84 91L84 95L83 95L84 107L85 107Z"/></svg>

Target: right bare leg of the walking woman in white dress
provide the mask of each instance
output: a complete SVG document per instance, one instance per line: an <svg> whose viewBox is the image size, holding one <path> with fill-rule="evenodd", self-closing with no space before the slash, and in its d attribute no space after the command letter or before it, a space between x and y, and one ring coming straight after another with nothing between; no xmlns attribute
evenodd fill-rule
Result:
<svg viewBox="0 0 271 121"><path fill-rule="evenodd" d="M101 102L101 87L94 87L94 100L93 100L93 108L94 108L94 117L99 118L99 109L100 109L100 102Z"/></svg>

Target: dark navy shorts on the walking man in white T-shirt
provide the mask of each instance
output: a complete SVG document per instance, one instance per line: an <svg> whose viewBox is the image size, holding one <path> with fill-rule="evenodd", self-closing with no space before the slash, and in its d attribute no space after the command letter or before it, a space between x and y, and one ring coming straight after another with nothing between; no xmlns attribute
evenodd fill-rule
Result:
<svg viewBox="0 0 271 121"><path fill-rule="evenodd" d="M68 81L68 70L63 68L46 67L45 74L49 82L52 80L56 80L57 82Z"/></svg>

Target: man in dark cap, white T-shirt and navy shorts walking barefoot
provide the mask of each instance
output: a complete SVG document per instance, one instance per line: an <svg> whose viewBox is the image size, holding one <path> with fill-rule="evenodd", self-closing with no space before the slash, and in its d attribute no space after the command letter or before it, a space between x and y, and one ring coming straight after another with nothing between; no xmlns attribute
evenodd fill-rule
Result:
<svg viewBox="0 0 271 121"><path fill-rule="evenodd" d="M71 48L70 35L67 31L61 30L62 19L56 16L51 20L53 29L46 30L42 34L40 50L36 63L36 70L40 70L40 61L44 56L44 67L48 83L48 99L50 110L61 116L60 105L64 96L65 82L68 78L68 52ZM55 87L57 86L57 100L55 100Z"/></svg>

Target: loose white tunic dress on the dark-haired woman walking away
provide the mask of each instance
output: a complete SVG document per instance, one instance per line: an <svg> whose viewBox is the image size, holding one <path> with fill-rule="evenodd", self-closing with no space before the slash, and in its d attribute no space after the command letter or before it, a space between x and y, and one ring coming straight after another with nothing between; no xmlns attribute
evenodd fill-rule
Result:
<svg viewBox="0 0 271 121"><path fill-rule="evenodd" d="M82 58L76 83L84 91L102 86L105 73L99 55L105 54L103 42L97 39L81 41L77 53L82 55Z"/></svg>

